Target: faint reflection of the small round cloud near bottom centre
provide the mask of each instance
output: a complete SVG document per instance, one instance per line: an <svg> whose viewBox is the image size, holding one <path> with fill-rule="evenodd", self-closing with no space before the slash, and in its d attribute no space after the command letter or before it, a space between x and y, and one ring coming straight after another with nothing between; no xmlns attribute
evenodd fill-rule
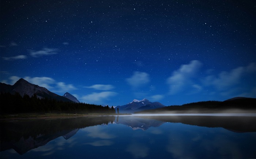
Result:
<svg viewBox="0 0 256 159"><path fill-rule="evenodd" d="M149 148L145 144L131 143L126 148L127 152L131 152L134 158L144 158L148 156Z"/></svg>

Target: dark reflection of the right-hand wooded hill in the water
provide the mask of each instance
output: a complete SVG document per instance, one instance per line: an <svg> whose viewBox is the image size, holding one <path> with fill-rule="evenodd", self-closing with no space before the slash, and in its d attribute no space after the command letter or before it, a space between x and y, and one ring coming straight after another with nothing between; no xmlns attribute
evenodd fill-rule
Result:
<svg viewBox="0 0 256 159"><path fill-rule="evenodd" d="M203 127L222 127L233 132L256 132L255 116L141 116L140 118Z"/></svg>

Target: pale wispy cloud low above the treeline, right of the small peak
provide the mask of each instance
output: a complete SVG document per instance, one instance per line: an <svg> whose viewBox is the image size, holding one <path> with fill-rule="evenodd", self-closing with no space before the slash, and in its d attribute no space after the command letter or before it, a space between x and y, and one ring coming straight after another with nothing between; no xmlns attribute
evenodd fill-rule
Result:
<svg viewBox="0 0 256 159"><path fill-rule="evenodd" d="M92 94L82 96L82 102L84 103L90 103L90 104L95 104L95 103L102 103L102 100L107 100L108 98L112 96L116 96L116 92L111 92L111 91L105 91L105 92L93 92Z"/></svg>

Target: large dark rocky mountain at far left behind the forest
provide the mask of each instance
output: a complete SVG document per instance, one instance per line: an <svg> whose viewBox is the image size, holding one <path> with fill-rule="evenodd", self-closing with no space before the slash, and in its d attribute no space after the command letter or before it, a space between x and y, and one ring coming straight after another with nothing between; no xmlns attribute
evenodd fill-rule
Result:
<svg viewBox="0 0 256 159"><path fill-rule="evenodd" d="M25 94L27 94L30 97L35 94L38 98L48 98L48 99L51 98L51 99L61 100L64 102L73 102L68 98L65 98L63 96L60 96L53 92L48 91L44 87L31 84L22 78L19 79L14 85L0 83L0 92L3 92L3 93L9 92L11 94L15 94L15 92L18 92L21 96L24 96Z"/></svg>

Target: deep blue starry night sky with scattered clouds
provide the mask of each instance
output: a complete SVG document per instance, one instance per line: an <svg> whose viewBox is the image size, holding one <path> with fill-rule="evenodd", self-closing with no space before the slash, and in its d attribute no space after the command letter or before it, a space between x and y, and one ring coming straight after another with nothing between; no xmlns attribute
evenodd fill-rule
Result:
<svg viewBox="0 0 256 159"><path fill-rule="evenodd" d="M1 0L0 82L80 102L256 98L255 0Z"/></svg>

